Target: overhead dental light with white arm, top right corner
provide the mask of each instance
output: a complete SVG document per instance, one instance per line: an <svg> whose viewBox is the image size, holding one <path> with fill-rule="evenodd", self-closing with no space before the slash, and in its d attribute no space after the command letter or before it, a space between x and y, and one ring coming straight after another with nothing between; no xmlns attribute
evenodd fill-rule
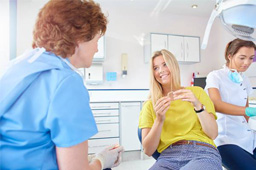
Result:
<svg viewBox="0 0 256 170"><path fill-rule="evenodd" d="M201 49L207 47L212 24L221 19L228 32L237 38L256 41L256 0L216 0L216 5L206 26Z"/></svg>

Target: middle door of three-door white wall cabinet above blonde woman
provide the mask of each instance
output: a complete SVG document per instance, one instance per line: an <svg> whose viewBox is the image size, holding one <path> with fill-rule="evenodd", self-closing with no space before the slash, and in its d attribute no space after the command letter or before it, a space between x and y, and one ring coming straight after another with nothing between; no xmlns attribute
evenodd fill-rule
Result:
<svg viewBox="0 0 256 170"><path fill-rule="evenodd" d="M184 40L182 36L168 36L168 50L178 61L184 61Z"/></svg>

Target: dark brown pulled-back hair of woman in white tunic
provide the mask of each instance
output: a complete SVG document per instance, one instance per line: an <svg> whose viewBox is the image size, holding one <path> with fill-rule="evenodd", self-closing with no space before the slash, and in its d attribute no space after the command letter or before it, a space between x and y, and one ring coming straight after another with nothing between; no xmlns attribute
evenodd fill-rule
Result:
<svg viewBox="0 0 256 170"><path fill-rule="evenodd" d="M254 48L254 50L256 50L256 46L252 41L241 40L239 38L234 39L233 41L230 41L226 46L225 59L227 64L229 63L228 56L234 56L242 47Z"/></svg>

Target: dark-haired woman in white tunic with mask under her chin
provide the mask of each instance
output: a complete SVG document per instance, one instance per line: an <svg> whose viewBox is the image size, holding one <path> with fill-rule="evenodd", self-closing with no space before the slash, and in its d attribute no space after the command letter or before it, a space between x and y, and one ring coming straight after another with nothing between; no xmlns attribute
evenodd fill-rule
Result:
<svg viewBox="0 0 256 170"><path fill-rule="evenodd" d="M253 62L256 46L251 41L235 39L226 46L226 64L209 73L205 90L217 112L218 137L215 143L227 169L255 169L256 133L248 119L256 116L256 108L249 107L252 87L243 74Z"/></svg>

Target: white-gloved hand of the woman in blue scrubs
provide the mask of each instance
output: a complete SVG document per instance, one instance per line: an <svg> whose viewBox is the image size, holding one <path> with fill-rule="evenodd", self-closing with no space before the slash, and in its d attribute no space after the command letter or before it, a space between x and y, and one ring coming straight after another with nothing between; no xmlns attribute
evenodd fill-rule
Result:
<svg viewBox="0 0 256 170"><path fill-rule="evenodd" d="M94 159L98 159L101 162L102 169L116 167L121 162L121 153L123 151L124 148L122 146L111 145L96 154Z"/></svg>

